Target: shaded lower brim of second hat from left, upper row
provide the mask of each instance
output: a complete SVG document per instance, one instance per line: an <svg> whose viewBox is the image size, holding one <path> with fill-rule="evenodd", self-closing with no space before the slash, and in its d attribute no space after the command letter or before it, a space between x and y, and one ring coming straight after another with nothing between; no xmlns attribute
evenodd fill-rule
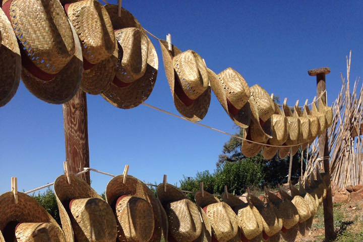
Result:
<svg viewBox="0 0 363 242"><path fill-rule="evenodd" d="M28 90L37 98L62 104L72 99L78 91L83 74L82 48L77 33L70 23L75 41L75 55L71 61L53 79L42 81L32 75L26 68L22 69L22 80Z"/></svg>

